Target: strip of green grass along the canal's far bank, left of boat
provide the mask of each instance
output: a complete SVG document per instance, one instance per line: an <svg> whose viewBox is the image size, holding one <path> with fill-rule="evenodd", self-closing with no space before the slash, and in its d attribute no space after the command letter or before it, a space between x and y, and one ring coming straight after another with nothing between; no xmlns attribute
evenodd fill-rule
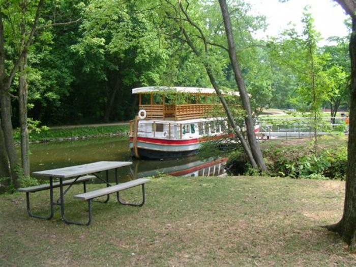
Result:
<svg viewBox="0 0 356 267"><path fill-rule="evenodd" d="M95 127L75 127L75 128L55 128L43 130L41 132L32 131L29 135L30 141L52 141L58 139L101 137L109 135L124 135L129 131L128 125L95 126ZM15 140L20 141L18 133Z"/></svg>

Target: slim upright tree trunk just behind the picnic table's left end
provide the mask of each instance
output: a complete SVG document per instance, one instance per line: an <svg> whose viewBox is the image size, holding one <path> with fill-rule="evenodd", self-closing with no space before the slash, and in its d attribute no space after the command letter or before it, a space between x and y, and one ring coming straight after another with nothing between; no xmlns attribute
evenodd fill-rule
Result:
<svg viewBox="0 0 356 267"><path fill-rule="evenodd" d="M24 177L29 177L29 138L27 128L27 53L23 57L19 70L19 90L18 90L18 103L19 103L19 122L21 130L21 166L23 169Z"/></svg>

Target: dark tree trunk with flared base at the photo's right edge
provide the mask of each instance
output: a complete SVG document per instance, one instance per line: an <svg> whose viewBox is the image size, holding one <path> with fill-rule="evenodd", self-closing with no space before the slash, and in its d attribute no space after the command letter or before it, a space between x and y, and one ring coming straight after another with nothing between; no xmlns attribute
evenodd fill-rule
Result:
<svg viewBox="0 0 356 267"><path fill-rule="evenodd" d="M336 0L352 18L352 33L349 44L351 58L350 84L350 131L348 136L348 158L345 184L345 202L342 219L329 229L341 234L349 245L356 242L356 3L352 0Z"/></svg>

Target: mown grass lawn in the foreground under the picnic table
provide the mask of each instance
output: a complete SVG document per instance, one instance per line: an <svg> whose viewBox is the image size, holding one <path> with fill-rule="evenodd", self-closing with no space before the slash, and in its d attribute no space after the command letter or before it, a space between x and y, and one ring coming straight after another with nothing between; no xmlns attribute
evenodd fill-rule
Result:
<svg viewBox="0 0 356 267"><path fill-rule="evenodd" d="M81 189L66 196L69 219L86 219L86 203L72 198ZM342 181L162 177L147 184L143 207L114 195L94 203L89 227L61 222L58 206L52 221L31 219L25 194L2 195L0 265L354 266L356 254L320 227L341 217L343 194ZM48 192L32 196L45 212Z"/></svg>

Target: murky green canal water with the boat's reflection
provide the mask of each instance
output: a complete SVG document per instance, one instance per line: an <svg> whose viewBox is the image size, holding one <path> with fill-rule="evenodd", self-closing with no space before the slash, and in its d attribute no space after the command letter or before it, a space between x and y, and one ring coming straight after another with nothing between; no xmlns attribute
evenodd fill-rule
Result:
<svg viewBox="0 0 356 267"><path fill-rule="evenodd" d="M76 141L32 144L31 172L62 168L97 161L132 161L132 166L118 170L121 181L158 174L176 176L224 175L224 159L202 159L199 156L162 161L131 158L129 141L123 137L94 138ZM103 174L101 174L103 175ZM114 172L109 172L114 181Z"/></svg>

